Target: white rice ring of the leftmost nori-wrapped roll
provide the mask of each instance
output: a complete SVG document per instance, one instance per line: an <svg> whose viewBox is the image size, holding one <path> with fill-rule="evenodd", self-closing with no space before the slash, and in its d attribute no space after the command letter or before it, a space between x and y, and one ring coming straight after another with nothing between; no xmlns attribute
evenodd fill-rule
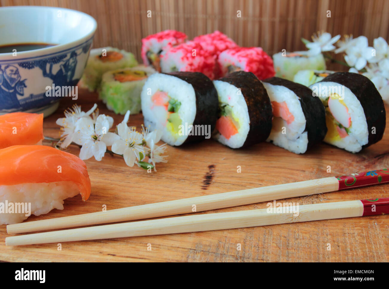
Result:
<svg viewBox="0 0 389 289"><path fill-rule="evenodd" d="M186 81L163 73L155 73L150 75L140 94L142 113L146 126L150 127L150 131L160 129L162 131L161 139L170 145L179 146L187 139L187 133L172 134L166 128L166 120L168 118L168 111L162 106L155 106L152 103L152 96L157 91L163 91L171 98L181 103L178 113L181 124L185 127L193 125L196 117L196 95L193 86Z"/></svg>

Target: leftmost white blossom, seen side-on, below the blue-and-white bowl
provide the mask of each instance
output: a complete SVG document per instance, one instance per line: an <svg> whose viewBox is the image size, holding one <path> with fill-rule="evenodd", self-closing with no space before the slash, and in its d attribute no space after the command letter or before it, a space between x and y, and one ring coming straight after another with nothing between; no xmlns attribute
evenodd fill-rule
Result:
<svg viewBox="0 0 389 289"><path fill-rule="evenodd" d="M77 131L77 122L81 118L90 118L91 113L96 109L97 104L87 112L81 111L81 106L74 104L72 108L64 111L65 117L58 118L56 124L61 126L60 147L67 148L72 141L76 142L75 132ZM78 143L80 144L80 143Z"/></svg>

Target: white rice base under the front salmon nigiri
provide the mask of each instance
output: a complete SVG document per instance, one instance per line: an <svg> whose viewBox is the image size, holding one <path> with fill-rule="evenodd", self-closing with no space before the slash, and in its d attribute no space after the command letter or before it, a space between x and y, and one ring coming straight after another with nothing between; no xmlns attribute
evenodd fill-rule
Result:
<svg viewBox="0 0 389 289"><path fill-rule="evenodd" d="M3 207L7 203L30 203L30 214L39 216L47 214L52 209L63 210L63 200L74 197L80 193L77 185L71 181L54 183L26 183L18 185L0 186L0 203ZM0 213L0 225L21 223L27 219L25 212L8 212L9 208L4 207L5 212Z"/></svg>

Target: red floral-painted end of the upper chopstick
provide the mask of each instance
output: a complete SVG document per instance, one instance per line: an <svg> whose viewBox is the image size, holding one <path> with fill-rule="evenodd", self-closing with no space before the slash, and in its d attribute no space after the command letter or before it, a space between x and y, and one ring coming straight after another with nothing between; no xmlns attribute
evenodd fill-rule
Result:
<svg viewBox="0 0 389 289"><path fill-rule="evenodd" d="M389 169L360 172L336 178L339 181L338 190L379 185L389 183Z"/></svg>

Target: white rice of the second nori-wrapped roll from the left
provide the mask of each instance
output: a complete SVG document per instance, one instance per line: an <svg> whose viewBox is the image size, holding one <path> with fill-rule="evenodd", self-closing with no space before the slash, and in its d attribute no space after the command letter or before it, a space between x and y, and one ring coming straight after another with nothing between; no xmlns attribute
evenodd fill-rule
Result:
<svg viewBox="0 0 389 289"><path fill-rule="evenodd" d="M231 106L234 120L239 123L238 133L226 139L219 132L216 132L215 138L222 144L230 148L240 148L246 141L250 130L250 117L247 103L240 89L235 85L221 80L214 80L214 85L219 99L219 106L228 104Z"/></svg>

